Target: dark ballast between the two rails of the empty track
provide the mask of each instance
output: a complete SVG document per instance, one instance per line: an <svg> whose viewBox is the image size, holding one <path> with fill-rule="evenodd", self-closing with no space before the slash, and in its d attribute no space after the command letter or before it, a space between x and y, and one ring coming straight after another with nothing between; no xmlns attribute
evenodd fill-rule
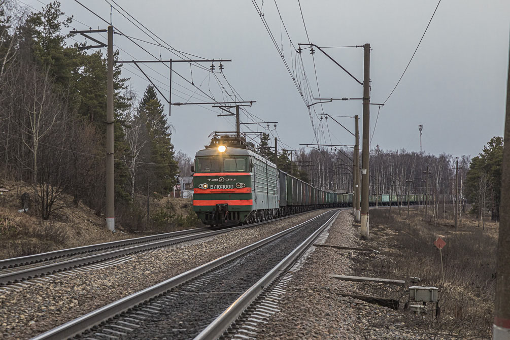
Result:
<svg viewBox="0 0 510 340"><path fill-rule="evenodd" d="M160 304L158 307L160 310L144 315L140 328L134 332L127 332L120 338L122 340L194 338L334 214L335 212L329 212L282 238L238 257L225 266L175 287L165 294L164 299L171 299L171 303ZM148 305L136 309L148 311ZM104 328L110 327L107 324ZM83 337L94 337L96 332L105 333L104 328L99 326L97 330L93 329L83 334Z"/></svg>

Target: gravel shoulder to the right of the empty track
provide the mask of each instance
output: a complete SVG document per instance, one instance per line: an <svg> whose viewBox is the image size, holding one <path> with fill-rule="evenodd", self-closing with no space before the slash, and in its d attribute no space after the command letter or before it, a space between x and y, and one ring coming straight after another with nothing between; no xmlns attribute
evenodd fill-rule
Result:
<svg viewBox="0 0 510 340"><path fill-rule="evenodd" d="M359 239L349 211L342 211L329 229L325 244L367 248ZM257 340L287 339L449 339L451 335L429 330L428 322L409 311L381 307L341 294L370 295L398 299L402 287L346 282L328 274L360 275L363 261L377 253L362 253L317 247L308 265L295 274L287 294L267 324L257 331ZM354 261L356 259L356 261ZM361 264L361 266L356 265ZM405 296L402 302L405 300Z"/></svg>

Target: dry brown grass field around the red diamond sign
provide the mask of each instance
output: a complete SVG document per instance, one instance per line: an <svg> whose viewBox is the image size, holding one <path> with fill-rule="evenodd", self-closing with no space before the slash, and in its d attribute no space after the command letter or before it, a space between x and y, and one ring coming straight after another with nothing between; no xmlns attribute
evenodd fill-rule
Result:
<svg viewBox="0 0 510 340"><path fill-rule="evenodd" d="M443 217L442 207L440 217ZM421 208L413 208L410 219L405 210L371 210L372 239L383 250L382 259L371 268L380 277L409 278L418 276L423 285L440 289L441 317L430 320L434 327L446 332L489 338L493 321L497 223L486 221L486 230L465 214L455 231L452 211L437 226L424 219ZM448 218L449 217L449 218ZM443 248L444 281L439 250L433 245L438 236L446 242Z"/></svg>

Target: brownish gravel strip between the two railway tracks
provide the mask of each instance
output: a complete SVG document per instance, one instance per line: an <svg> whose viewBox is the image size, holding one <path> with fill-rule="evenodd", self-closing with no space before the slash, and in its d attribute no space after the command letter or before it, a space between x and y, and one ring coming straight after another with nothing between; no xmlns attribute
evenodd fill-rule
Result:
<svg viewBox="0 0 510 340"><path fill-rule="evenodd" d="M0 295L2 339L35 336L84 313L304 222L314 211L255 228L221 234L192 246L135 254L127 263Z"/></svg>

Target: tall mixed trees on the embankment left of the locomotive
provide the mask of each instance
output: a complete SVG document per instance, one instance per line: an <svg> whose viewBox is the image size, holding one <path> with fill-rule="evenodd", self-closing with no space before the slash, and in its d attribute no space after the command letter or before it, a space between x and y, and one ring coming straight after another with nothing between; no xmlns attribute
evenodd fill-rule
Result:
<svg viewBox="0 0 510 340"><path fill-rule="evenodd" d="M105 200L106 56L67 45L71 17L55 1L29 12L0 0L0 171L30 185L44 219ZM114 60L118 60L118 51ZM173 189L171 125L153 87L141 98L114 66L115 199L129 215L138 193Z"/></svg>

